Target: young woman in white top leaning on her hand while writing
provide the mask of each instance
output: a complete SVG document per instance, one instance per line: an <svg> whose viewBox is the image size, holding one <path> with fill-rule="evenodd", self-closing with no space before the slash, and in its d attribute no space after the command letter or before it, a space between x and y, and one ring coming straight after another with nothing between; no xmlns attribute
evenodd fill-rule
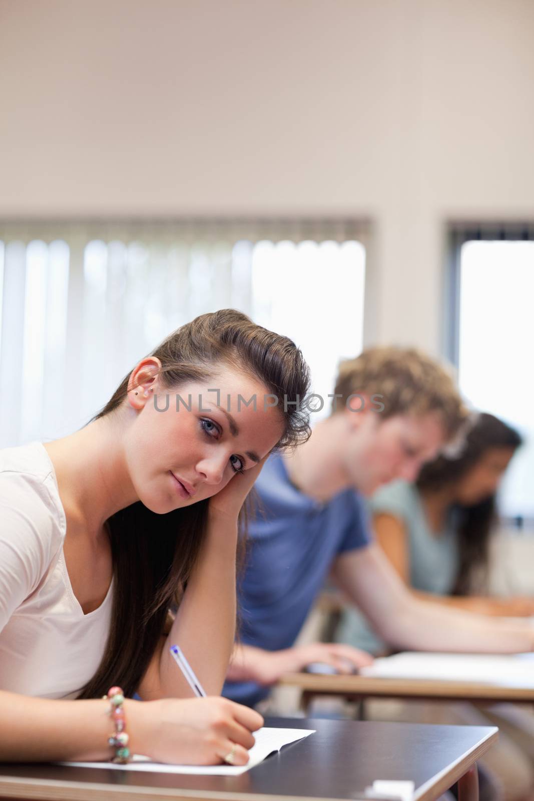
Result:
<svg viewBox="0 0 534 801"><path fill-rule="evenodd" d="M291 340L227 309L167 337L84 428L0 451L0 759L106 759L122 744L247 762L259 714L191 698L169 648L219 695L238 516L267 455L307 438L308 384Z"/></svg>

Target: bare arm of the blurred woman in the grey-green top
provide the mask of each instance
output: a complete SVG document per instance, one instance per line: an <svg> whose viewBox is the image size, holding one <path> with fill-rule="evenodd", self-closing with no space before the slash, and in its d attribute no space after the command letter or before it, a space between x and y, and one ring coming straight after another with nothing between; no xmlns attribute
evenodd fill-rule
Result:
<svg viewBox="0 0 534 801"><path fill-rule="evenodd" d="M395 568L400 578L421 601L451 606L476 614L528 617L534 615L534 598L489 598L475 595L435 595L415 590L410 586L410 557L408 531L401 517L391 513L377 513L374 517L376 541Z"/></svg>

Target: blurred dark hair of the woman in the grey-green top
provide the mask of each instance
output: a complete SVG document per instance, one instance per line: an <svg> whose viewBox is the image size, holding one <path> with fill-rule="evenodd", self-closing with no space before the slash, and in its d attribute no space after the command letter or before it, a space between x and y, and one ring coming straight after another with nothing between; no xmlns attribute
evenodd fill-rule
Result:
<svg viewBox="0 0 534 801"><path fill-rule="evenodd" d="M434 492L444 485L456 483L475 467L489 449L515 451L521 442L515 429L492 414L480 413L465 438L460 456L451 458L442 455L424 465L416 481L417 489L420 493ZM467 595L472 589L474 571L488 568L489 535L496 517L496 497L493 494L471 506L457 504L455 512L458 514L460 564L452 594Z"/></svg>

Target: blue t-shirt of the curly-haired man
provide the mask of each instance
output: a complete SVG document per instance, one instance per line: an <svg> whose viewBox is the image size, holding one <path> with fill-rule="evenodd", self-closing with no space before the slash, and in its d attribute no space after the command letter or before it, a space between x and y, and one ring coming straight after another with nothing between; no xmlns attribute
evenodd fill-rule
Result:
<svg viewBox="0 0 534 801"><path fill-rule="evenodd" d="M238 582L239 639L265 650L290 648L339 553L368 545L363 498L343 490L327 503L291 484L283 457L269 457L255 483L247 566ZM253 706L269 693L255 682L227 682L223 695Z"/></svg>

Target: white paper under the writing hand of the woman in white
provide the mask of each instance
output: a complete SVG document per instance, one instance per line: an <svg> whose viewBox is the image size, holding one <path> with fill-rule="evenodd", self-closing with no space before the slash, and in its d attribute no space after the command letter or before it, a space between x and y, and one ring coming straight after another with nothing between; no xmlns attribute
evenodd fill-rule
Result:
<svg viewBox="0 0 534 801"><path fill-rule="evenodd" d="M246 765L167 765L161 762L152 762L147 756L135 755L132 762L126 765L115 765L112 762L60 762L59 765L76 767L105 767L118 771L156 771L158 773L188 773L197 776L239 776L250 771L263 762L273 751L279 751L282 746L295 743L308 735L313 735L315 729L275 729L263 727L255 731L255 745L251 747L249 760Z"/></svg>

